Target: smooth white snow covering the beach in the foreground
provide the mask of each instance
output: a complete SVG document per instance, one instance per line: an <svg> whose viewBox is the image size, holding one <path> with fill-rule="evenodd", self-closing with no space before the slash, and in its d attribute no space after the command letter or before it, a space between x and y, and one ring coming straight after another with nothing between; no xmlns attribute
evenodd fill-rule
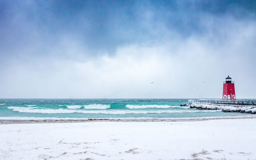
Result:
<svg viewBox="0 0 256 160"><path fill-rule="evenodd" d="M0 125L0 159L256 159L256 119Z"/></svg>

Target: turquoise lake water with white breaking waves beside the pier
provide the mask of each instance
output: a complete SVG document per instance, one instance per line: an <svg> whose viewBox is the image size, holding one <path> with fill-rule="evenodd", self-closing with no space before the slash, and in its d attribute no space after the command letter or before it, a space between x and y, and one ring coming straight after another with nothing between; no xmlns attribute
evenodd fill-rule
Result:
<svg viewBox="0 0 256 160"><path fill-rule="evenodd" d="M0 99L1 120L172 119L247 116L180 107L188 99Z"/></svg>

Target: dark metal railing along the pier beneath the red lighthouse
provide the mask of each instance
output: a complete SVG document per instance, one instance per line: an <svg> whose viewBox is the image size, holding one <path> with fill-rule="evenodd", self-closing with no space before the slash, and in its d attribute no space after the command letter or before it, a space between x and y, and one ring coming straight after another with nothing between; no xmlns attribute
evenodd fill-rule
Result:
<svg viewBox="0 0 256 160"><path fill-rule="evenodd" d="M238 101L193 100L191 102L193 102L193 103L205 103L205 104L256 105L256 100L238 100Z"/></svg>

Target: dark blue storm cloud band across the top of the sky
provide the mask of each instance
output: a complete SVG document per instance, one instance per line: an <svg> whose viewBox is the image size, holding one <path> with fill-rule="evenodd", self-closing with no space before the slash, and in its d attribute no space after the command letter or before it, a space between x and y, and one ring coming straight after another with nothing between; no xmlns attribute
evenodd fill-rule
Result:
<svg viewBox="0 0 256 160"><path fill-rule="evenodd" d="M93 54L111 54L119 45L173 38L168 31L185 38L207 34L205 16L254 20L255 6L254 1L2 1L0 46L44 54L65 35Z"/></svg>

